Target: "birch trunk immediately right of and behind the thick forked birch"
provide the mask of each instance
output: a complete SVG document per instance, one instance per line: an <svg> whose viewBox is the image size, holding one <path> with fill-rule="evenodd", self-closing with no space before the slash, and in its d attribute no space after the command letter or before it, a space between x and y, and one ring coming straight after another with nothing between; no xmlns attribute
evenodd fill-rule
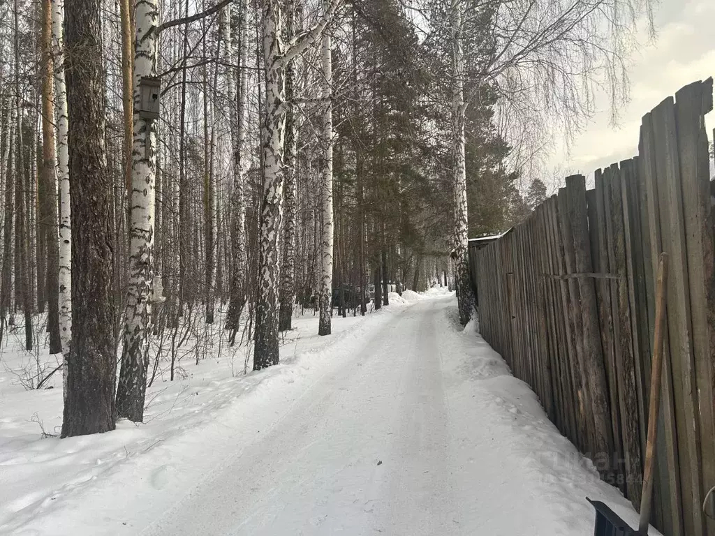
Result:
<svg viewBox="0 0 715 536"><path fill-rule="evenodd" d="M287 38L293 39L300 32L295 0L286 5L285 26ZM285 69L286 135L285 172L283 194L285 202L283 219L283 262L280 273L280 313L278 329L287 331L292 327L293 304L295 303L295 218L297 214L297 167L298 120L294 97L300 91L297 84L297 59L289 61Z"/></svg>

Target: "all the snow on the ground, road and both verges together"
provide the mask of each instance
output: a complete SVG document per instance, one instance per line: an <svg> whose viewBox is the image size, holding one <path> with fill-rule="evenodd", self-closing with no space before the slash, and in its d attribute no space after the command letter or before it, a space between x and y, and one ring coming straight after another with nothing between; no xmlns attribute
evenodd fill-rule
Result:
<svg viewBox="0 0 715 536"><path fill-rule="evenodd" d="M299 319L282 364L247 376L185 364L146 424L104 435L40 439L27 421L59 426L61 392L0 372L0 532L586 535L586 496L636 526L445 292L330 337Z"/></svg>

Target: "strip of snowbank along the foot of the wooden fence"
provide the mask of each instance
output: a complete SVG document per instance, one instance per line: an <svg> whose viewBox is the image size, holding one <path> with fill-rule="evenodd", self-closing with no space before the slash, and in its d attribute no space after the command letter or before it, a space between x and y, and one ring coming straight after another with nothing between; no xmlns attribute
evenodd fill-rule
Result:
<svg viewBox="0 0 715 536"><path fill-rule="evenodd" d="M448 322L458 323L456 307ZM440 330L438 344L450 407L472 407L452 412L453 455L466 460L459 477L478 497L472 522L480 533L526 534L528 520L534 536L591 535L596 515L586 497L637 528L631 502L548 420L531 387L480 337L478 322L457 329Z"/></svg>

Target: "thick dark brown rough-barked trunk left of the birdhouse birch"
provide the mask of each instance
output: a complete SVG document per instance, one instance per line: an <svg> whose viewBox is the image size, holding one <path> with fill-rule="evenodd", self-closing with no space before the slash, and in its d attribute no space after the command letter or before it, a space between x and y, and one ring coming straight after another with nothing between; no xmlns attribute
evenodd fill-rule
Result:
<svg viewBox="0 0 715 536"><path fill-rule="evenodd" d="M62 437L114 430L112 179L104 144L102 0L66 0L72 342Z"/></svg>

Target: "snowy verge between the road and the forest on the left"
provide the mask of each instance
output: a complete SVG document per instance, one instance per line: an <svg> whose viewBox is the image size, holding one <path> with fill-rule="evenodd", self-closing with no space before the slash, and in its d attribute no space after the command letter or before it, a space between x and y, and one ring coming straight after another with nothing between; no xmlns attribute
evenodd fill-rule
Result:
<svg viewBox="0 0 715 536"><path fill-rule="evenodd" d="M278 415L280 405L295 392L308 389L332 364L349 357L365 334L412 303L397 298L377 314L335 319L330 337L317 336L317 317L298 317L281 348L282 364L260 372L241 373L245 347L236 352L223 349L222 357L199 364L187 356L184 377L175 382L159 379L148 389L144 424L122 420L117 430L103 435L41 437L43 430L59 433L61 378L55 374L48 389L25 390L17 374L29 357L21 352L4 354L0 361L0 533L64 534L67 530L77 534L71 529L83 526L86 534L96 534L92 525L103 525L97 515L102 512L101 501L95 503L94 490L99 487L107 504L113 495L145 495L150 515L159 497L167 495L162 494L165 487L199 480L212 463L242 445L242 431L273 424L266 412L253 414L256 407L269 405L273 408L269 417ZM54 363L54 357L46 359ZM210 456L207 445L211 445ZM92 500L92 509L82 508L86 500ZM79 525L58 527L52 520L58 510L75 510ZM33 529L26 532L29 522Z"/></svg>

